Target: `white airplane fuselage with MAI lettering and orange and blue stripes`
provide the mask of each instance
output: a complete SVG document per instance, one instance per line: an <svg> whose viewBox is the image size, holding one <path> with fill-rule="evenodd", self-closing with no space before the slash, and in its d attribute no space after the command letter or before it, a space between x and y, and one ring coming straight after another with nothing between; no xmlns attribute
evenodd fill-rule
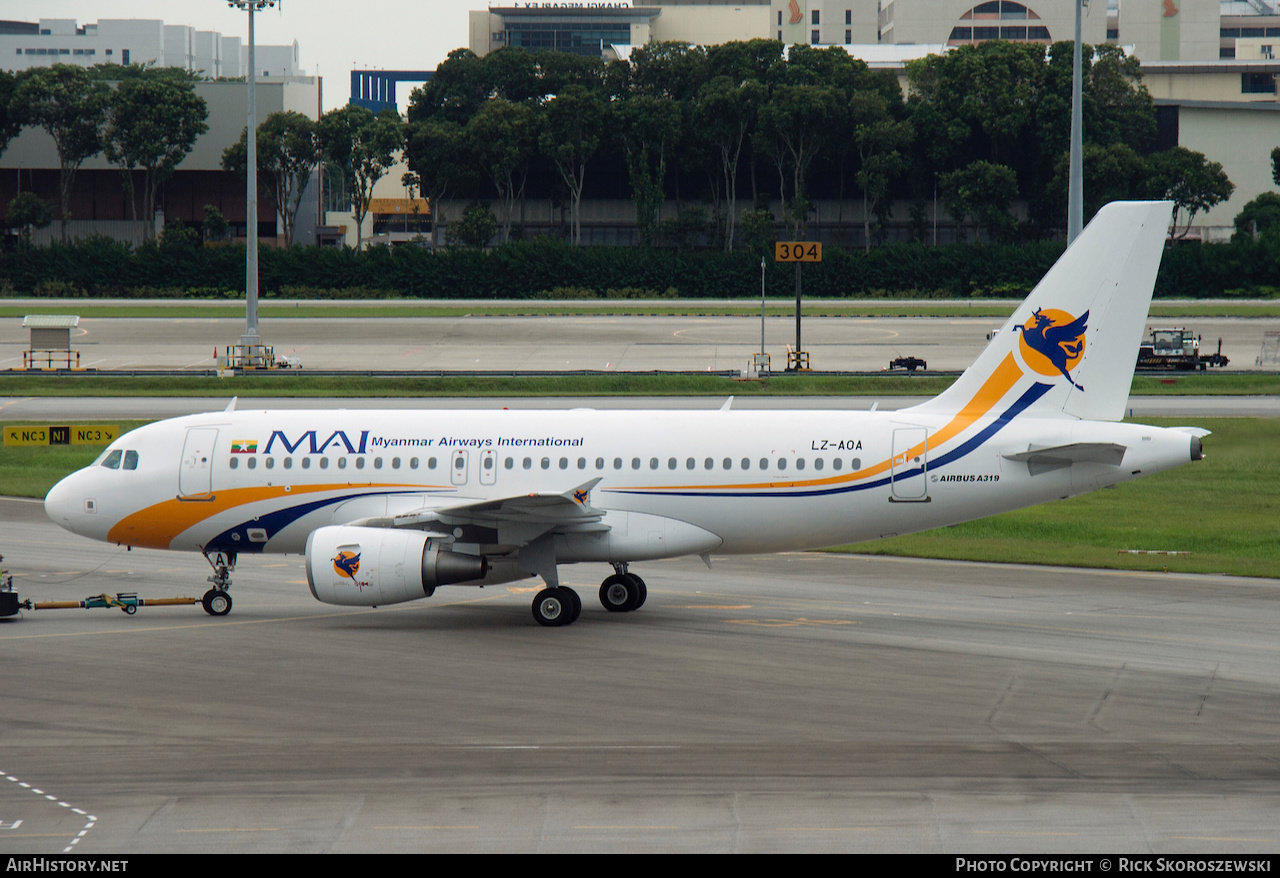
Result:
<svg viewBox="0 0 1280 878"><path fill-rule="evenodd" d="M947 436L954 421L910 410L219 412L122 436L46 507L68 530L124 545L298 553L328 525L599 479L590 503L605 513L608 557L566 535L558 561L635 561L906 534L1192 459L1190 436L1160 427L988 415ZM1032 475L1006 457L1092 442L1124 445L1123 465ZM113 451L133 468L104 466Z"/></svg>

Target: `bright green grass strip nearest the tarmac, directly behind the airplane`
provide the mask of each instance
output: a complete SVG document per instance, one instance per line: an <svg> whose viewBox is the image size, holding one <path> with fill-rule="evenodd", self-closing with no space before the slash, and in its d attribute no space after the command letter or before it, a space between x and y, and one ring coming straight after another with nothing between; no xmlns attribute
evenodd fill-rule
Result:
<svg viewBox="0 0 1280 878"><path fill-rule="evenodd" d="M1213 431L1196 463L1069 500L836 552L1002 563L1280 576L1280 431L1260 419L1190 419ZM1172 426L1172 419L1146 419ZM119 421L122 433L143 421ZM0 494L44 497L100 448L0 447ZM1125 549L1190 554L1121 554Z"/></svg>

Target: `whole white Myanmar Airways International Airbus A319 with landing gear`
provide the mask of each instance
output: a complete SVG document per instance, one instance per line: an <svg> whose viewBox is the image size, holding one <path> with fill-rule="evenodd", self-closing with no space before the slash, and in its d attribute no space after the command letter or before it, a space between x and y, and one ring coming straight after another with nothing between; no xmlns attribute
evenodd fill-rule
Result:
<svg viewBox="0 0 1280 878"><path fill-rule="evenodd" d="M561 564L829 547L1083 494L1202 457L1196 427L1120 424L1167 202L1103 207L945 393L893 412L228 411L120 436L49 516L201 552L225 614L243 553L301 553L319 600L380 605L530 576L539 623L582 602Z"/></svg>

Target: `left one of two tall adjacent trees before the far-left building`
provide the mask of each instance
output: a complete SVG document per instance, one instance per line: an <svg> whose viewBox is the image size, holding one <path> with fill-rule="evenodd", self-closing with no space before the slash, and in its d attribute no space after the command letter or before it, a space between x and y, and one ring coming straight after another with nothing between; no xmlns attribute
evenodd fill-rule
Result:
<svg viewBox="0 0 1280 878"><path fill-rule="evenodd" d="M108 87L93 73L73 64L33 67L18 73L12 106L23 124L44 128L58 150L58 197L61 239L67 241L76 172L102 151L101 128Z"/></svg>

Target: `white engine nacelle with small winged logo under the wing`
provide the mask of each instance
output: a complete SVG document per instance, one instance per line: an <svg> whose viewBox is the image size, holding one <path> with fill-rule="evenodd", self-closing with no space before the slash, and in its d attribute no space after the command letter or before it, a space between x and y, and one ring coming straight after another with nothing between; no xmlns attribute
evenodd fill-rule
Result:
<svg viewBox="0 0 1280 878"><path fill-rule="evenodd" d="M306 568L316 600L376 607L428 598L438 585L484 579L489 563L449 552L419 530L335 526L307 538Z"/></svg>

